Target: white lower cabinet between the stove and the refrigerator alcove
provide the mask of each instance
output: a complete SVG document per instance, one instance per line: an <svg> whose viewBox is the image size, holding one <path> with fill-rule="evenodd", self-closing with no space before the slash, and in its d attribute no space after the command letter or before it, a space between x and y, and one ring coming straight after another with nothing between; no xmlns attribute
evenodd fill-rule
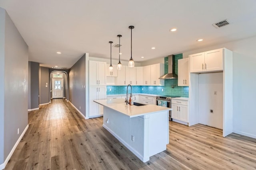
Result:
<svg viewBox="0 0 256 170"><path fill-rule="evenodd" d="M188 101L172 99L172 119L188 122Z"/></svg>

